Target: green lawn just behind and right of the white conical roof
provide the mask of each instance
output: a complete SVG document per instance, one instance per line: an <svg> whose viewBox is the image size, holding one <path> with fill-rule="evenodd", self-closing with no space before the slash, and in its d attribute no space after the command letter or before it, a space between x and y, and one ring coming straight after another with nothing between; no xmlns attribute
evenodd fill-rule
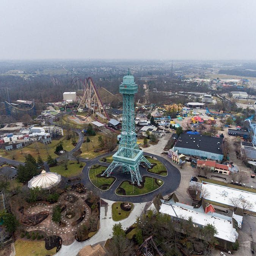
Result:
<svg viewBox="0 0 256 256"><path fill-rule="evenodd" d="M63 163L60 165L51 167L50 170L53 173L58 173L64 177L72 177L72 176L78 176L81 171L83 170L83 167L79 167L81 163L77 163L77 161L68 161L68 170L65 170L65 166ZM83 166L85 166L85 163L82 163Z"/></svg>

